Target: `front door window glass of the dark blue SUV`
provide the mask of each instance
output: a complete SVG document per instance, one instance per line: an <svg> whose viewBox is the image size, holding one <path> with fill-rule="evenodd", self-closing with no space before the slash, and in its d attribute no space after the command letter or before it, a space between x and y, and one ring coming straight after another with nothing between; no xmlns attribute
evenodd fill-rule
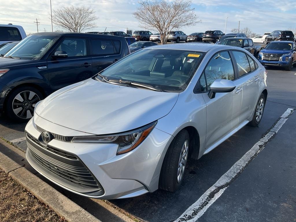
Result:
<svg viewBox="0 0 296 222"><path fill-rule="evenodd" d="M86 39L82 38L65 38L57 47L56 51L64 51L68 57L86 55Z"/></svg>

